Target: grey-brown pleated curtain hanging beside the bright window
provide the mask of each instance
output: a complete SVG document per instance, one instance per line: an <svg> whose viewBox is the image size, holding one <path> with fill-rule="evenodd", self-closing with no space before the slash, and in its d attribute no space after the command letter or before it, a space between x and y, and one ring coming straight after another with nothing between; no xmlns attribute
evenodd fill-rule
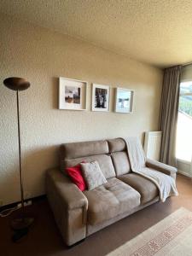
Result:
<svg viewBox="0 0 192 256"><path fill-rule="evenodd" d="M166 68L160 102L160 123L162 143L160 161L176 166L176 130L179 99L179 81L182 66Z"/></svg>

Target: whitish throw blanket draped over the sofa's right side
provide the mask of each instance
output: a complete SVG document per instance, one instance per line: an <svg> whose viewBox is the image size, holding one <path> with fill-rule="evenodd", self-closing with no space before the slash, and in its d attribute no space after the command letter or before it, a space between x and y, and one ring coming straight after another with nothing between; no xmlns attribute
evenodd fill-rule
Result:
<svg viewBox="0 0 192 256"><path fill-rule="evenodd" d="M146 167L146 158L137 137L124 138L130 158L131 171L151 180L159 189L160 201L171 195L178 195L175 180L162 172Z"/></svg>

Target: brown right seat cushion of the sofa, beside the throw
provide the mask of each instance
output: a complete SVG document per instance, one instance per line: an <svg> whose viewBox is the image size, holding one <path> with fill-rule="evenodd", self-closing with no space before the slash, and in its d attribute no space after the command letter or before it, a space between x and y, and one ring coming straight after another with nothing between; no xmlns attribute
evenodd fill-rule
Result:
<svg viewBox="0 0 192 256"><path fill-rule="evenodd" d="M129 184L141 195L141 203L145 204L159 195L156 185L145 177L136 173L129 173L118 177L121 181Z"/></svg>

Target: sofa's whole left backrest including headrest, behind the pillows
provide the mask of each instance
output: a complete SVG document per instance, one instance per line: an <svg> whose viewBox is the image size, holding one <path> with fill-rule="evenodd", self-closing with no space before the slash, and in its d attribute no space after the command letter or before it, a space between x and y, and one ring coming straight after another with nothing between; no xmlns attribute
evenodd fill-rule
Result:
<svg viewBox="0 0 192 256"><path fill-rule="evenodd" d="M96 160L106 178L115 177L112 158L108 155L107 141L61 145L60 162L62 172L65 168L76 166L83 160L87 162Z"/></svg>

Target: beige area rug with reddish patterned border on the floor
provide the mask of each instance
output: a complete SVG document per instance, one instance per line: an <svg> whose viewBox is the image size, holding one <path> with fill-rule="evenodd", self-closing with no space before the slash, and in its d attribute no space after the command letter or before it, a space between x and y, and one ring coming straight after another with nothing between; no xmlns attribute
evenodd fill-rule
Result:
<svg viewBox="0 0 192 256"><path fill-rule="evenodd" d="M192 212L179 208L108 256L191 256Z"/></svg>

